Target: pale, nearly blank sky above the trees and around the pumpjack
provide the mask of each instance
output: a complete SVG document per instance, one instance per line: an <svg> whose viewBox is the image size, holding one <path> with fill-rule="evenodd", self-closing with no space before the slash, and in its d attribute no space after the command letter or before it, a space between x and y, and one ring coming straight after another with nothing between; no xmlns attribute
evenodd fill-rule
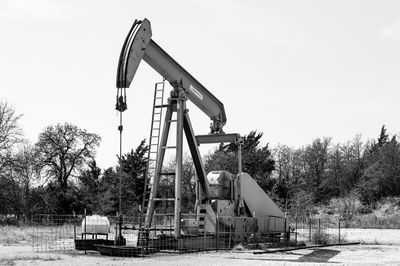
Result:
<svg viewBox="0 0 400 266"><path fill-rule="evenodd" d="M101 135L116 163L115 76L135 18L225 105L225 132L264 132L299 147L316 137L400 130L399 1L0 0L0 98L35 143L50 124ZM142 63L128 89L124 152L148 138L154 82ZM196 134L209 119L190 108Z"/></svg>

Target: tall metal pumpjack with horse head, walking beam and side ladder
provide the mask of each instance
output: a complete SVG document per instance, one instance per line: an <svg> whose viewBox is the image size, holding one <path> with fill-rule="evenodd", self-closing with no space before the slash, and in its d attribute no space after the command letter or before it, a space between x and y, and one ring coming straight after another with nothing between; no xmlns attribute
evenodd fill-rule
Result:
<svg viewBox="0 0 400 266"><path fill-rule="evenodd" d="M288 226L284 213L263 191L257 182L247 173L242 172L242 138L239 134L226 134L223 127L227 122L225 108L209 90L176 62L165 50L163 50L152 38L152 29L148 19L135 20L125 42L123 44L116 79L117 110L123 112L127 109L125 90L130 87L136 71L145 61L164 80L168 81L172 90L168 103L154 104L153 122L159 121L158 127L152 128L152 132L159 130L162 133L156 135L155 143L152 143L154 135L150 136L150 146L154 145L156 151L151 159L149 154L149 166L146 188L149 195L144 196L142 210L145 212L143 228L153 228L154 209L157 201L170 201L174 203L173 214L173 238L182 239L191 235L209 233L213 234L229 228L233 242L243 241L249 234L257 232L259 235L287 234ZM162 84L164 86L164 84ZM155 99L157 96L157 86ZM154 100L155 101L155 100ZM187 101L192 102L204 114L211 119L210 133L195 135L190 122ZM156 109L166 109L163 126L161 115L155 118ZM158 110L157 109L157 110ZM173 116L175 114L175 116ZM173 119L175 117L176 119ZM167 146L171 123L176 122L176 145ZM122 129L122 127L121 127ZM196 170L196 203L194 206L196 218L184 219L182 216L182 157L183 136L186 136L190 154ZM157 137L158 136L158 137ZM206 175L198 146L207 143L235 143L238 147L237 161L238 173L233 174L223 169L212 171ZM164 173L163 162L167 149L175 150L175 172ZM151 150L151 147L150 147ZM221 171L222 170L222 171ZM160 178L165 175L174 177L173 198L158 196ZM185 242L187 243L187 241ZM188 244L190 245L190 244Z"/></svg>

